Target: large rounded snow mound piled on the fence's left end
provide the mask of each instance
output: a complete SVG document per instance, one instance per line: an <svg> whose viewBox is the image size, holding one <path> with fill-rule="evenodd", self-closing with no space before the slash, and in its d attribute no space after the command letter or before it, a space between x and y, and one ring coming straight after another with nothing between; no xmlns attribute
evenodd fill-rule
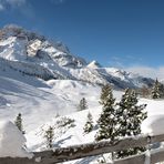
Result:
<svg viewBox="0 0 164 164"><path fill-rule="evenodd" d="M25 137L10 121L0 122L0 157L32 157L24 148Z"/></svg>

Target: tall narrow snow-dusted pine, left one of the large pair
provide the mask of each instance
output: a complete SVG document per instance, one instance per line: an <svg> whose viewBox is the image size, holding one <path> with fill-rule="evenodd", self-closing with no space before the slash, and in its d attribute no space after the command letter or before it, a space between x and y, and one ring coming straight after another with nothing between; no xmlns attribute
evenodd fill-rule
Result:
<svg viewBox="0 0 164 164"><path fill-rule="evenodd" d="M102 88L100 103L102 104L102 113L98 120L99 132L95 135L96 141L104 139L113 142L117 137L115 117L115 99L109 84Z"/></svg>

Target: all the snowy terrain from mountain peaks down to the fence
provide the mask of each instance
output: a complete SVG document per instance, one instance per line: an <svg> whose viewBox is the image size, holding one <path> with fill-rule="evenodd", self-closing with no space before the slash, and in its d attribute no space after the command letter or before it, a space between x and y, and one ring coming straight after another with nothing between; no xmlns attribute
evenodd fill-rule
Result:
<svg viewBox="0 0 164 164"><path fill-rule="evenodd" d="M14 30L10 33L12 28ZM22 114L25 145L30 151L47 148L44 131L50 125L55 134L53 147L93 142L102 110L99 104L101 88L96 84L110 82L119 89L145 84L145 79L140 75L115 68L99 68L95 61L86 65L83 59L72 55L62 43L52 43L43 37L20 30L23 39L17 35L17 27L10 27L6 39L0 40L0 120L13 122L18 113ZM122 93L114 90L116 101ZM78 111L82 98L86 99L89 109ZM147 104L148 114L142 124L142 133L164 133L158 126L164 120L164 101L140 99L140 103ZM93 116L94 127L91 133L84 134L89 112ZM68 120L71 122L68 123ZM29 156L22 150L25 139L17 132L11 122L0 123L0 147L7 145L3 152L0 148L0 156ZM16 135L12 136L12 133ZM20 142L16 139L20 139ZM98 158L93 156L70 163L98 163Z"/></svg>

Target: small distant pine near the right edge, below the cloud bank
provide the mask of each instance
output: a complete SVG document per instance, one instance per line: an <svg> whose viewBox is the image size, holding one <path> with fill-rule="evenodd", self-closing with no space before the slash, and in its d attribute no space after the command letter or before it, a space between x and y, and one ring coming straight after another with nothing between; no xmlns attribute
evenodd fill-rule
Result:
<svg viewBox="0 0 164 164"><path fill-rule="evenodd" d="M152 88L152 99L160 99L161 98L161 91L160 91L160 82L158 80L156 79L153 88Z"/></svg>

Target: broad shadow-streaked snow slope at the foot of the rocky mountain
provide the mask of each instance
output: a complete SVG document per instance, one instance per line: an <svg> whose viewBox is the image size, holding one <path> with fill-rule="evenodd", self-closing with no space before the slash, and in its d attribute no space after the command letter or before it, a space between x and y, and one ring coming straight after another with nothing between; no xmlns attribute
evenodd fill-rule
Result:
<svg viewBox="0 0 164 164"><path fill-rule="evenodd" d="M76 111L83 96L89 98L92 103L94 99L92 94L98 95L98 90L100 89L83 82L72 80L45 82L6 69L0 71L0 120L13 121L20 112L24 115L24 126L28 131L57 114Z"/></svg>

